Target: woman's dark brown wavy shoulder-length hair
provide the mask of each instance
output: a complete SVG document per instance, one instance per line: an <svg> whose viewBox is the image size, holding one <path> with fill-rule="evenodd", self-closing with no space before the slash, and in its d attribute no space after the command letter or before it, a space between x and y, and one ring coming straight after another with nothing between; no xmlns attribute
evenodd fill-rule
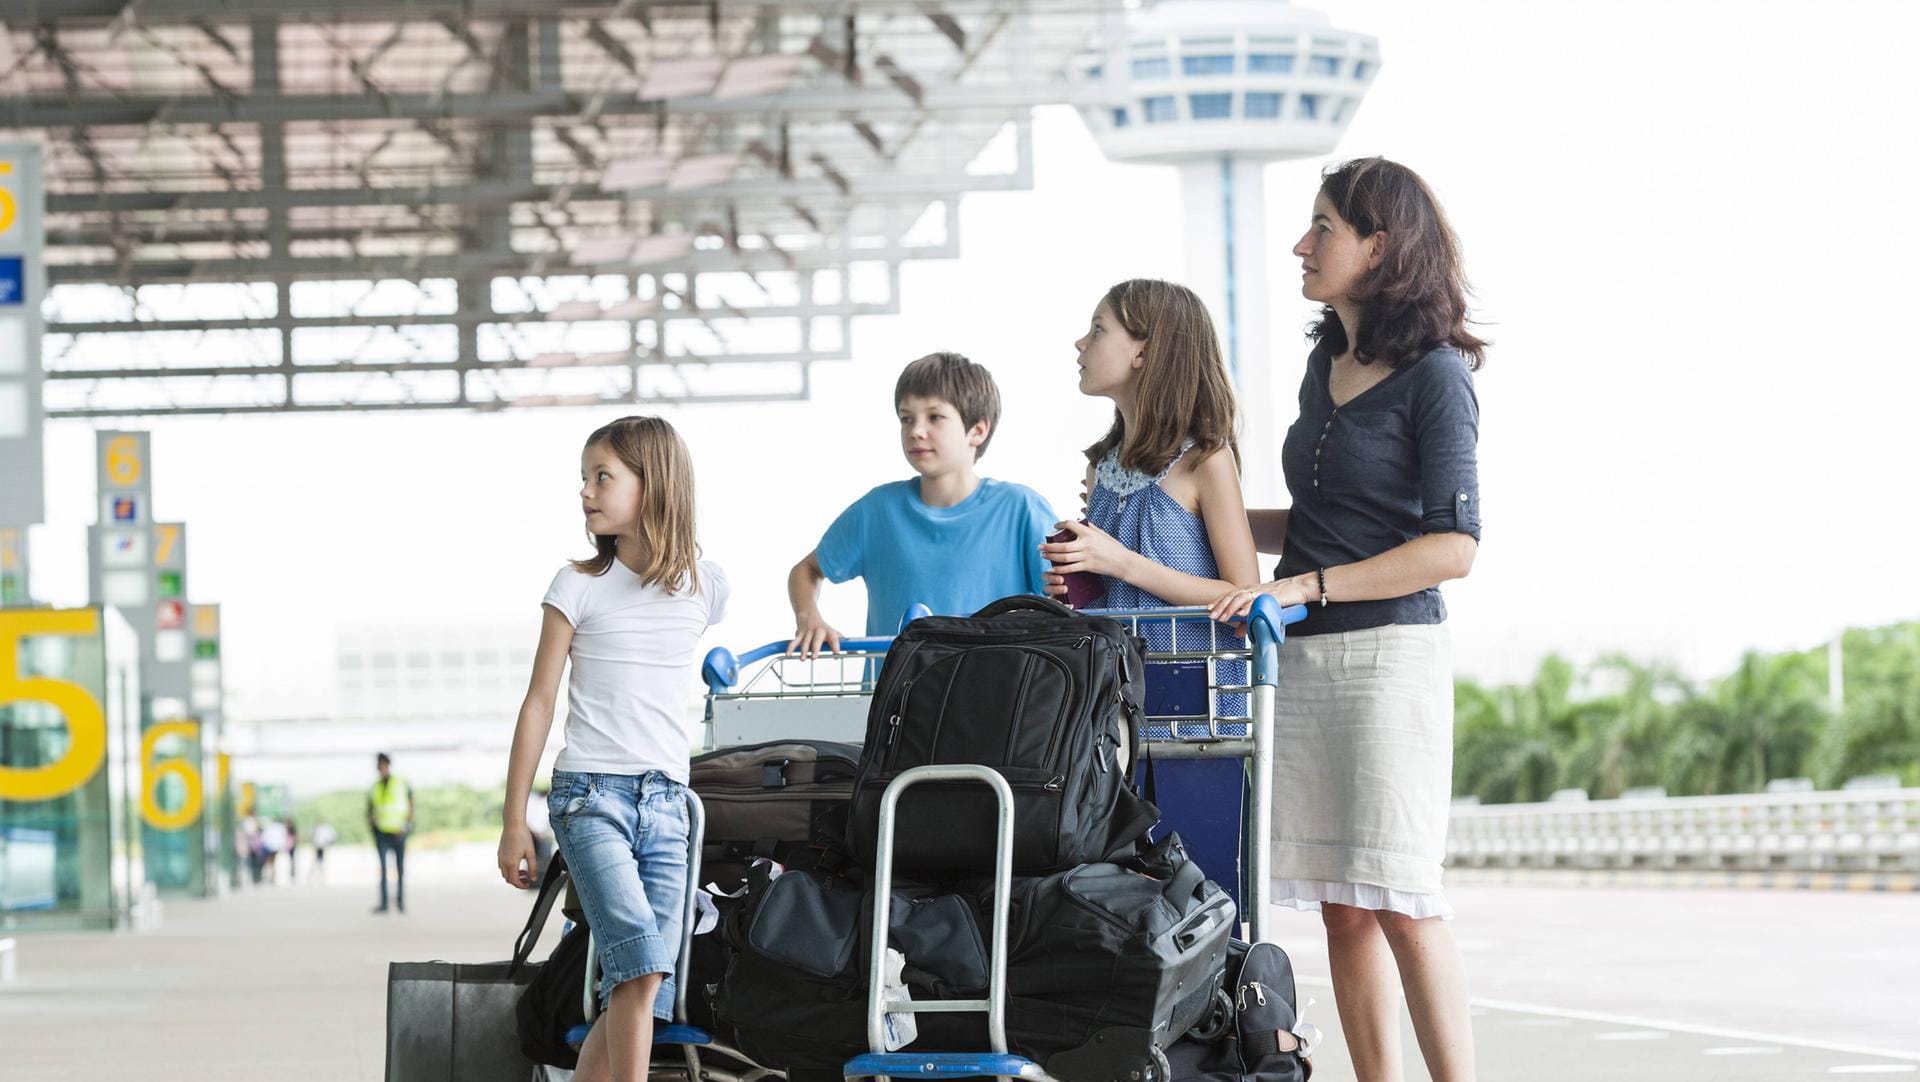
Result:
<svg viewBox="0 0 1920 1082"><path fill-rule="evenodd" d="M1459 238L1427 180L1398 161L1356 157L1327 169L1321 194L1359 236L1386 234L1386 257L1354 290L1359 301L1354 361L1400 368L1436 345L1452 345L1467 357L1467 368L1478 368L1486 341L1467 330ZM1332 305L1321 309L1308 338L1332 357L1348 347Z"/></svg>

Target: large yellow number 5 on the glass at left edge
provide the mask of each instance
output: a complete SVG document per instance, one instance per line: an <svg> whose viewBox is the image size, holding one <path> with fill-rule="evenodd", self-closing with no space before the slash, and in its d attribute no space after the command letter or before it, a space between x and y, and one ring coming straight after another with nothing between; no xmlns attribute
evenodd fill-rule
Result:
<svg viewBox="0 0 1920 1082"><path fill-rule="evenodd" d="M27 610L0 616L0 706L46 702L67 717L67 754L40 767L0 765L0 800L54 800L86 785L108 758L108 716L84 687L19 675L19 641L31 635L96 635L92 608Z"/></svg>

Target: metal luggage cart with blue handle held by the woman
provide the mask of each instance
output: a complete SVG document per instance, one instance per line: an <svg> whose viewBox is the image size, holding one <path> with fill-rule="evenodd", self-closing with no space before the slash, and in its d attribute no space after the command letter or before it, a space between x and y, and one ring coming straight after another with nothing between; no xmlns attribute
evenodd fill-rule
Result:
<svg viewBox="0 0 1920 1082"><path fill-rule="evenodd" d="M1279 648L1286 635L1286 625L1306 618L1306 606L1281 608L1271 597L1254 600L1254 610L1246 620L1246 639L1231 631L1219 631L1206 616L1204 608L1173 610L1108 610L1089 612L1089 616L1108 616L1131 625L1148 645L1148 702L1158 704L1162 714L1154 716L1148 706L1142 741L1142 760L1146 750L1154 750L1173 760L1235 760L1236 767L1252 771L1250 792L1252 823L1242 831L1244 859L1236 858L1236 867L1250 877L1248 898L1252 900L1252 934L1256 942L1267 940L1271 917L1267 913L1267 840L1271 836L1273 806L1273 693L1279 681ZM1185 629L1194 625L1194 629ZM1158 681L1154 664L1160 664ZM1198 670L1177 670L1171 666L1192 666ZM1248 685L1223 683L1233 679L1231 666L1250 668ZM1179 698L1190 691L1192 673L1204 677L1204 704L1181 706ZM1171 675L1169 675L1171 673ZM1169 679L1177 687L1169 687ZM1246 677L1238 677L1246 679ZM1160 693L1156 694L1156 683ZM1242 696L1235 700L1231 696ZM1244 714L1221 716L1221 700L1227 706L1244 702ZM1169 712L1171 710L1171 712ZM1165 729L1165 733L1154 733ZM1146 744L1152 744L1148 748ZM900 792L925 781L977 781L993 788L998 804L995 825L995 873L993 873L993 932L989 942L987 998L985 1000L889 1000L883 980L887 934L891 929L893 898L893 812ZM1235 815L1240 815L1238 800ZM870 971L866 1000L868 1053L849 1059L845 1076L856 1078L1021 1078L1029 1082L1058 1082L1041 1065L1023 1055L1016 1055L1006 1046L1006 925L1012 892L1014 867L1014 794L995 769L983 765L925 765L900 773L887 787L879 806L879 838L874 867L874 921L870 927ZM1202 863L1202 867L1206 867ZM987 1015L989 1051L941 1053L941 1051L885 1051L887 1015L924 1011L973 1011ZM1156 1061L1150 1070L1140 1072L1139 1082L1167 1082L1167 1063L1154 1049Z"/></svg>

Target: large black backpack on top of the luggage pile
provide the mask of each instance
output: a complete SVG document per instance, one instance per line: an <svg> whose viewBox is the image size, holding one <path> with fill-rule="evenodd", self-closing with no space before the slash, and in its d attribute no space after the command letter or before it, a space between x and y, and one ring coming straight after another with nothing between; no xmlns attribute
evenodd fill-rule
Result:
<svg viewBox="0 0 1920 1082"><path fill-rule="evenodd" d="M1127 854L1160 817L1139 758L1144 645L1125 625L1044 597L925 616L879 671L854 777L849 842L874 865L879 804L902 771L995 767L1014 790L1014 871L1050 875ZM996 802L977 783L925 783L895 812L902 873L993 871Z"/></svg>

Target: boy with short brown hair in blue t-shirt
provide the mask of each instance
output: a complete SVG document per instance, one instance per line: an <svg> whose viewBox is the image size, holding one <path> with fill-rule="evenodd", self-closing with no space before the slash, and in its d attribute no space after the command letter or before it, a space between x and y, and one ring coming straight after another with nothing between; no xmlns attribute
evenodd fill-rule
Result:
<svg viewBox="0 0 1920 1082"><path fill-rule="evenodd" d="M964 616L1044 591L1041 541L1054 510L1025 485L973 472L1000 422L993 374L958 353L929 353L900 372L893 403L900 451L920 476L856 499L793 564L789 652L839 650L841 633L820 618L820 579L866 579L868 635L893 635L910 604Z"/></svg>

